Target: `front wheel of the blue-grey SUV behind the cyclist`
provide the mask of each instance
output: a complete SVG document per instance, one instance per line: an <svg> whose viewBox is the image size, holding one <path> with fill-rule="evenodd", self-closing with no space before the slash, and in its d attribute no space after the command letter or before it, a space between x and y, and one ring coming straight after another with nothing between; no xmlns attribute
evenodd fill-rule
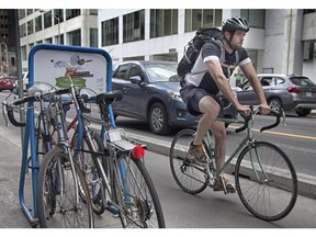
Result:
<svg viewBox="0 0 316 237"><path fill-rule="evenodd" d="M167 111L162 103L154 103L149 111L149 126L153 133L163 135L171 131L168 125Z"/></svg>

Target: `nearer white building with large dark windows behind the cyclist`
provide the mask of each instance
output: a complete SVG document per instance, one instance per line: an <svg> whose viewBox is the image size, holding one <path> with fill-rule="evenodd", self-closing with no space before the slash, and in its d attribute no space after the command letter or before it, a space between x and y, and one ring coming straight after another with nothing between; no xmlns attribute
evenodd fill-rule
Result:
<svg viewBox="0 0 316 237"><path fill-rule="evenodd" d="M99 47L113 61L179 61L199 27L219 27L234 15L249 21L244 47L258 72L303 74L316 82L315 10L104 9L99 10Z"/></svg>

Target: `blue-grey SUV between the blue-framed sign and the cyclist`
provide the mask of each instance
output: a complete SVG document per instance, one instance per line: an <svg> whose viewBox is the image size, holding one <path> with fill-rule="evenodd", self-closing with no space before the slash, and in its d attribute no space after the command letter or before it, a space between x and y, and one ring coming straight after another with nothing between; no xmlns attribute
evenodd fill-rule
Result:
<svg viewBox="0 0 316 237"><path fill-rule="evenodd" d="M112 88L123 99L113 104L114 115L148 121L155 134L173 126L194 126L199 117L187 111L180 98L177 63L124 61L114 66Z"/></svg>

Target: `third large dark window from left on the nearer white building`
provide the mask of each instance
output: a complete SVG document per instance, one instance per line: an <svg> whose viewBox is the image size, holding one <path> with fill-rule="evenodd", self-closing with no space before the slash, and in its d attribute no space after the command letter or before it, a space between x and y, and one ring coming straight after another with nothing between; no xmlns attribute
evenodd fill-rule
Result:
<svg viewBox="0 0 316 237"><path fill-rule="evenodd" d="M150 10L150 38L178 34L178 9Z"/></svg>

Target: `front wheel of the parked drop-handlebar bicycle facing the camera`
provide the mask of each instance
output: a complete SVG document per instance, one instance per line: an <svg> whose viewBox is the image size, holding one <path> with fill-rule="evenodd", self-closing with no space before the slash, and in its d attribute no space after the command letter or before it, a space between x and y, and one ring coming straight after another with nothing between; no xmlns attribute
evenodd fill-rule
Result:
<svg viewBox="0 0 316 237"><path fill-rule="evenodd" d="M58 163L61 165L58 166ZM78 163L74 162L74 165L78 185L89 199L84 177ZM91 201L83 202L80 195L77 195L79 206L76 205L74 180L69 156L61 148L55 147L45 156L38 172L37 208L42 228L90 228L94 226ZM64 183L63 188L60 183Z"/></svg>

